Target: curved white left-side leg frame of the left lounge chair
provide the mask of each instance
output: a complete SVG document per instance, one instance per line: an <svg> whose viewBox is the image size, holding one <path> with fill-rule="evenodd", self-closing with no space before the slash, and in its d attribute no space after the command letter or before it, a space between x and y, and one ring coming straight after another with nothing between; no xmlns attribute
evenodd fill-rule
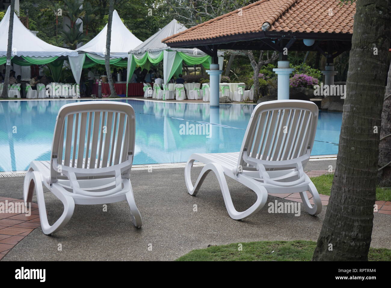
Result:
<svg viewBox="0 0 391 288"><path fill-rule="evenodd" d="M59 217L59 219L57 219L57 221L52 226L50 226L46 214L45 196L43 194L41 175L38 172L29 170L25 177L25 191L23 192L23 194L25 195L25 202L31 202L34 187L36 188L36 194L38 199L41 228L44 234L50 235L60 230L66 225L66 223L68 223L68 221L73 215L75 209L75 202L72 197L66 196L62 193L56 193L56 196L61 200L61 202L63 202L64 212Z"/></svg>

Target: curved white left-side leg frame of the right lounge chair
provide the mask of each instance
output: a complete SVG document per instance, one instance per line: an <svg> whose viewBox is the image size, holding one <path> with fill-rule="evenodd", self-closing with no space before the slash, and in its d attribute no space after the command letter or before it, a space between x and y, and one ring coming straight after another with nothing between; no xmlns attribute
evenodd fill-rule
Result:
<svg viewBox="0 0 391 288"><path fill-rule="evenodd" d="M194 159L189 160L185 168L185 181L187 190L190 195L195 195L198 192L208 173L213 170L213 172L216 174L217 180L219 181L222 196L224 198L224 203L227 208L228 214L232 219L241 220L246 217L249 217L258 212L265 205L267 201L267 190L264 187L259 187L260 191L254 191L258 196L256 202L247 210L243 212L238 212L233 205L230 190L228 189L227 181L224 176L224 171L221 165L217 163L206 164L201 170L201 173L199 174L198 179L195 182L195 186L193 187L190 177L190 170L193 166L193 162Z"/></svg>

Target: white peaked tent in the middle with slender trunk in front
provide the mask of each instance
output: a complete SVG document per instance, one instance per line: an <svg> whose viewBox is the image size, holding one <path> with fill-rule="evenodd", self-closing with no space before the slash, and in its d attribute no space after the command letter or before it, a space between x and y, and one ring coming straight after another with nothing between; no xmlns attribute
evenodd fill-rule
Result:
<svg viewBox="0 0 391 288"><path fill-rule="evenodd" d="M80 54L70 62L75 79L80 79L81 71L86 68L86 56L91 65L104 64L106 55L107 24L90 42L76 49ZM126 66L128 52L140 45L142 41L133 35L126 28L117 10L113 11L113 22L111 24L110 64Z"/></svg>

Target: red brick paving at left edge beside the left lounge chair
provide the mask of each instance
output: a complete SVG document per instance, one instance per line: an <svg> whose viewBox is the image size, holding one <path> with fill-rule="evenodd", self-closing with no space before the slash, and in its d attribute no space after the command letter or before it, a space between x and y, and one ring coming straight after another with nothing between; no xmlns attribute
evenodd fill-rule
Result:
<svg viewBox="0 0 391 288"><path fill-rule="evenodd" d="M0 197L0 202L5 201L8 203L23 202L20 199ZM31 207L31 216L20 213L0 213L0 260L32 230L41 226L38 205L32 203Z"/></svg>

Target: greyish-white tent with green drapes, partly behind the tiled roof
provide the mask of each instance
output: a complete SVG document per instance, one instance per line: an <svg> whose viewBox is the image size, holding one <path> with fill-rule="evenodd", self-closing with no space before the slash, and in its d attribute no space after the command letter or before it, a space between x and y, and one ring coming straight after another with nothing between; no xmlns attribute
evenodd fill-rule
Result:
<svg viewBox="0 0 391 288"><path fill-rule="evenodd" d="M135 49L129 51L127 58L127 81L135 71L136 65L145 66L150 63L156 64L163 60L164 82L167 83L171 77L182 70L182 61L188 65L203 64L207 69L210 65L211 57L199 49L172 49L161 40L173 34L186 30L187 28L173 19L165 27L153 34ZM222 69L224 53L219 51L219 64ZM147 66L148 67L148 66Z"/></svg>

